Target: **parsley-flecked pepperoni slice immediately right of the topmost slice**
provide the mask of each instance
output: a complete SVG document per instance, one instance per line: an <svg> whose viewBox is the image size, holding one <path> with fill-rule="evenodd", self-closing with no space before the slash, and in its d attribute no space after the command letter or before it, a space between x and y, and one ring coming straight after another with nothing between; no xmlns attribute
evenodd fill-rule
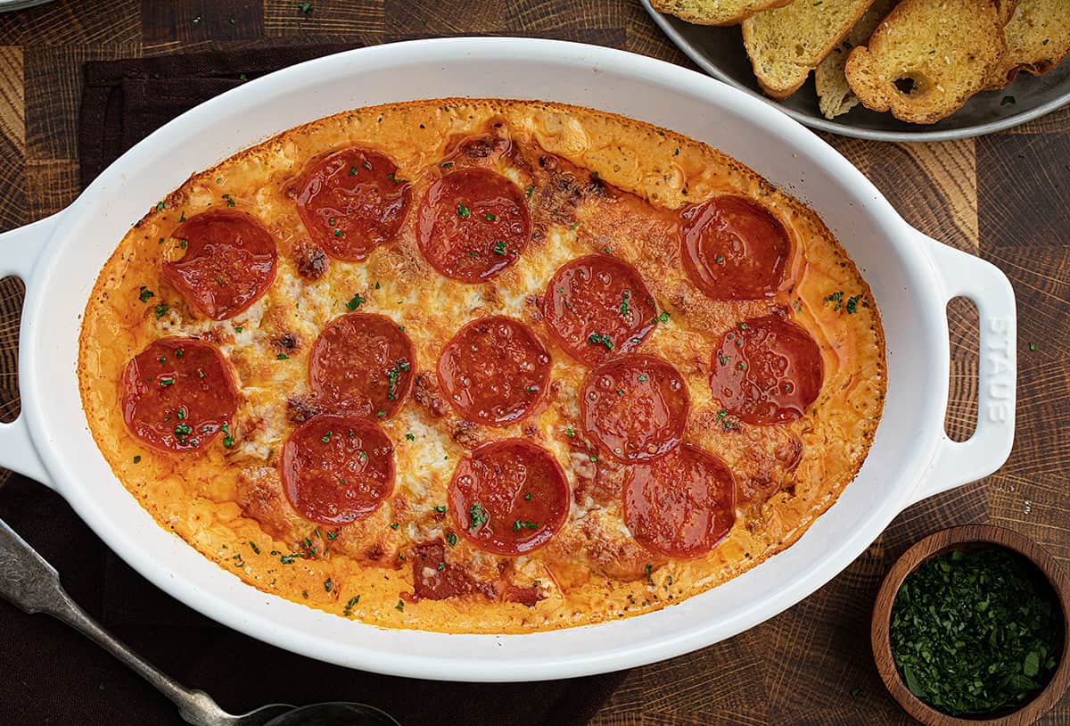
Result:
<svg viewBox="0 0 1070 726"><path fill-rule="evenodd" d="M488 169L446 175L419 206L419 251L435 270L462 283L486 282L516 262L529 237L523 194Z"/></svg>

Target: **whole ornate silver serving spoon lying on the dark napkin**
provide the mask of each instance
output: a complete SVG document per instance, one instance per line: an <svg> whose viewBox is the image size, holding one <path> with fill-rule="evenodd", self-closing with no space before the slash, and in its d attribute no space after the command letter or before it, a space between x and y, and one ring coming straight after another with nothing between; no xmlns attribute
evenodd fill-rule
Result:
<svg viewBox="0 0 1070 726"><path fill-rule="evenodd" d="M129 666L179 707L194 726L400 726L386 713L364 704L312 704L295 708L271 704L232 715L203 691L180 685L117 639L71 600L52 568L0 519L0 596L27 612L46 612L94 640Z"/></svg>

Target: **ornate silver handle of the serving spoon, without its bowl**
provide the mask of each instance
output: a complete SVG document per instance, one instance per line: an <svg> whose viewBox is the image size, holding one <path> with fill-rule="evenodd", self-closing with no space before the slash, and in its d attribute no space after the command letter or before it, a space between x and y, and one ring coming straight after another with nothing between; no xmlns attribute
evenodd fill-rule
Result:
<svg viewBox="0 0 1070 726"><path fill-rule="evenodd" d="M0 595L27 612L46 612L94 640L149 681L195 726L230 726L236 719L203 691L182 686L104 630L66 593L59 573L0 519Z"/></svg>

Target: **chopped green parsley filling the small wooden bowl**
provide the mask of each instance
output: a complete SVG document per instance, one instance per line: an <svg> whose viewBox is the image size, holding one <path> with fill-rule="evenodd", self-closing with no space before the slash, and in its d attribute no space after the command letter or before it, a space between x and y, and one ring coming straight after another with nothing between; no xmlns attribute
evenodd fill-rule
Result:
<svg viewBox="0 0 1070 726"><path fill-rule="evenodd" d="M906 576L891 607L896 667L950 715L1014 708L1055 669L1057 605L1033 566L1002 549L951 551Z"/></svg>

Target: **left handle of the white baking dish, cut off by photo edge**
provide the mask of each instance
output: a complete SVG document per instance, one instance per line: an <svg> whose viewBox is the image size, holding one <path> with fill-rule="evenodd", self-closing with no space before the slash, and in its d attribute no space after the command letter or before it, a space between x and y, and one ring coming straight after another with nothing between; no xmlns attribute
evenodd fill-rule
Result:
<svg viewBox="0 0 1070 726"><path fill-rule="evenodd" d="M0 235L0 277L15 276L30 285L33 268L59 217L59 214L54 214ZM21 341L19 345L22 345ZM19 382L21 384L21 380ZM0 423L0 467L56 488L33 445L25 413L11 423Z"/></svg>

